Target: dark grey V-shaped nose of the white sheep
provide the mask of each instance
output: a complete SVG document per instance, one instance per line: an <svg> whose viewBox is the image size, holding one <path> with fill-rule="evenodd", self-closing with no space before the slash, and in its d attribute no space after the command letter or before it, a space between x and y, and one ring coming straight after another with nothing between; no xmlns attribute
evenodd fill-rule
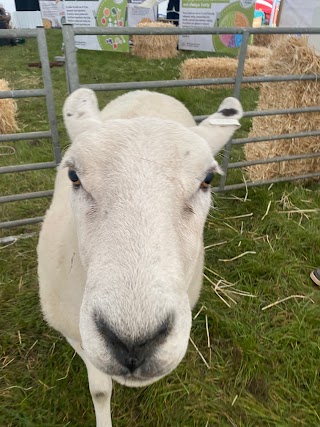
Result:
<svg viewBox="0 0 320 427"><path fill-rule="evenodd" d="M164 343L172 329L173 316L168 316L152 334L137 338L134 342L120 338L101 314L95 314L94 318L98 332L111 350L113 357L133 373L153 355L159 345Z"/></svg>

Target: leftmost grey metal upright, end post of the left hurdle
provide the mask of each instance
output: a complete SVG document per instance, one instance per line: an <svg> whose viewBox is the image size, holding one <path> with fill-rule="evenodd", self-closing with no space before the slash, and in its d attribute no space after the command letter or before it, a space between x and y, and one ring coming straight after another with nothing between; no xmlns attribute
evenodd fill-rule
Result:
<svg viewBox="0 0 320 427"><path fill-rule="evenodd" d="M46 105L47 105L48 119L49 119L49 125L50 125L54 159L55 159L55 163L58 165L61 162L61 148L60 148L60 142L59 142L57 117L56 117L55 106L54 106L54 96L53 96L53 88L52 88L49 56L48 56L48 47L47 47L47 40L46 40L46 31L43 27L37 28L37 42L38 42L39 57L41 61L42 79L43 79L44 89L46 92Z"/></svg>

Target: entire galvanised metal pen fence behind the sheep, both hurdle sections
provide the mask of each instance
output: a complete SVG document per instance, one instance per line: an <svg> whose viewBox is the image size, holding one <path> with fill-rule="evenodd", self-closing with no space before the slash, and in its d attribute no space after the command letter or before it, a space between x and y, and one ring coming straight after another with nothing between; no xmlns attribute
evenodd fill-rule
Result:
<svg viewBox="0 0 320 427"><path fill-rule="evenodd" d="M246 61L247 47L252 34L320 34L320 28L74 28L71 25L63 26L63 41L65 46L65 60L66 60L66 76L69 92L73 92L80 87L86 87L95 91L116 91L116 90L133 90L133 89L156 89L156 88L172 88L172 87L188 87L188 86L208 86L208 85L222 85L233 84L233 96L239 98L241 85L244 83L263 83L263 82L290 82L290 81L304 81L304 80L318 80L320 74L317 75L283 75L283 76L261 76L261 77L244 77L244 66ZM76 35L184 35L184 34L241 34L242 44L239 52L238 69L235 78L215 78L215 79L192 79L192 80L161 80L161 81L145 81L145 82L123 82L123 83L101 83L101 84L81 84L79 81L78 64L76 57ZM51 138L54 150L54 159L52 162L37 163L19 166L8 166L0 168L1 173L14 173L26 170L37 170L54 168L61 160L61 151L59 146L59 137L57 132L57 123L54 111L54 99L52 92L52 83L50 77L50 67L48 61L48 52L45 41L45 31L43 28L36 30L2 30L2 36L5 37L36 37L39 46L39 54L42 63L44 89L34 90L17 90L12 92L0 92L0 98L21 98L21 97L35 97L45 96L47 101L47 111L50 123L50 130L47 132L31 132L19 133L11 135L0 135L0 142L16 141L19 139L29 139L34 137ZM293 113L310 113L320 112L320 106L304 107L295 109L279 109L279 110L263 110L263 111L247 111L244 117L256 116L271 116L279 114L293 114ZM202 121L207 116L196 116L197 122ZM238 138L230 140L226 146L222 167L225 175L221 177L219 186L213 188L215 192L237 190L241 188L253 187L262 184L272 184L282 181L292 181L297 179L305 179L320 176L320 171L296 175L285 176L281 178L268 179L255 182L239 182L232 185L227 185L226 180L228 171L232 169L242 169L247 166L282 162L284 160L297 160L306 159L311 157L319 157L320 152L311 154L298 154L288 155L281 157L273 157L271 159L254 160L254 161L239 161L231 162L231 150L235 146L246 143L256 143L261 141L274 141L279 139L289 138L303 138L308 136L319 136L320 129L315 129L309 132L288 133L282 135L271 135L268 137L255 137L255 138ZM18 200L27 200L39 197L48 197L52 195L52 191L34 192L27 194L15 194L0 197L0 203L8 203ZM1 228L12 228L21 225L35 224L42 220L42 217L24 218L17 221L9 221L0 223Z"/></svg>

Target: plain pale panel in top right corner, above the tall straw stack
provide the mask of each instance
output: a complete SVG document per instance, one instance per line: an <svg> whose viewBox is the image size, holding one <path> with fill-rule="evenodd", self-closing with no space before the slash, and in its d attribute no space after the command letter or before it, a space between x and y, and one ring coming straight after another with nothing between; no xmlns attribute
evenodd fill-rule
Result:
<svg viewBox="0 0 320 427"><path fill-rule="evenodd" d="M319 27L319 0L282 0L279 27ZM308 36L310 44L320 54L320 35Z"/></svg>

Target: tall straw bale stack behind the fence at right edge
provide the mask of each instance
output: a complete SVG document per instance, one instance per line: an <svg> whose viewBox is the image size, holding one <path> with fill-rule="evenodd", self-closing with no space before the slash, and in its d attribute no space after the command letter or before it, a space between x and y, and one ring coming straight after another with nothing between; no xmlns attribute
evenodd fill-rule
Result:
<svg viewBox="0 0 320 427"><path fill-rule="evenodd" d="M309 46L307 37L280 38L266 64L269 75L319 73L320 57ZM258 110L301 108L320 105L320 83L297 81L263 83ZM302 113L254 117L249 137L305 132L320 129L320 114ZM247 160L320 152L320 138L306 137L246 144ZM294 176L320 170L320 157L250 166L250 180Z"/></svg>

